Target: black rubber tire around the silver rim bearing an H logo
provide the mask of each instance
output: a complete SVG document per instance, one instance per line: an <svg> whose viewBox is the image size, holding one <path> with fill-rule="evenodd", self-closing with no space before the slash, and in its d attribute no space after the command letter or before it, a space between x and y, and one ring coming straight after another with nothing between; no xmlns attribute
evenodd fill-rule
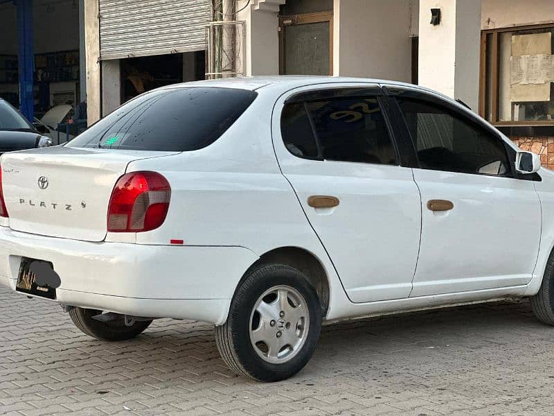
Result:
<svg viewBox="0 0 554 416"><path fill-rule="evenodd" d="M256 351L250 340L250 318L258 298L276 286L289 286L305 300L309 327L298 352L284 363L268 363ZM261 265L249 271L238 287L225 324L215 327L215 341L223 361L237 374L272 382L288 379L303 369L316 349L321 333L321 304L310 281L303 272L282 264Z"/></svg>

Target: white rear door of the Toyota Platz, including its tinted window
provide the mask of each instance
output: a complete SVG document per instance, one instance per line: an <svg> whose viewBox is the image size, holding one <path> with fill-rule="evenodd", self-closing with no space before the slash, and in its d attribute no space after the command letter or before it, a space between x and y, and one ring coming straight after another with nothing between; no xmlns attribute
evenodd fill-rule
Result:
<svg viewBox="0 0 554 416"><path fill-rule="evenodd" d="M274 110L276 155L352 302L408 297L420 196L377 85L307 87Z"/></svg>

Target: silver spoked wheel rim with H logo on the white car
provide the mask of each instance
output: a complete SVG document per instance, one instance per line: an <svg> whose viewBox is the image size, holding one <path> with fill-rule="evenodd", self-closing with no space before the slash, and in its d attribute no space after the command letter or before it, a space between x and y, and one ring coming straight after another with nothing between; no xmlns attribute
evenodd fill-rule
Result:
<svg viewBox="0 0 554 416"><path fill-rule="evenodd" d="M302 349L310 328L304 297L290 286L265 291L250 314L250 342L268 363L291 360Z"/></svg>

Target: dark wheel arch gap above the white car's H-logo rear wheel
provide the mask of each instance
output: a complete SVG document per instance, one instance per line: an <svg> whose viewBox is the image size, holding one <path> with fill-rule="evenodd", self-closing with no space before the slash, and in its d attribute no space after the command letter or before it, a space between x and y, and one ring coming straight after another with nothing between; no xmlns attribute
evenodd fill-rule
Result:
<svg viewBox="0 0 554 416"><path fill-rule="evenodd" d="M325 317L327 315L330 299L329 276L321 260L305 248L287 246L274 248L265 252L244 272L244 275L242 275L242 278L235 287L235 293L254 268L269 263L285 264L303 272L310 279L310 283L319 297L322 316ZM233 297L235 293L233 293Z"/></svg>

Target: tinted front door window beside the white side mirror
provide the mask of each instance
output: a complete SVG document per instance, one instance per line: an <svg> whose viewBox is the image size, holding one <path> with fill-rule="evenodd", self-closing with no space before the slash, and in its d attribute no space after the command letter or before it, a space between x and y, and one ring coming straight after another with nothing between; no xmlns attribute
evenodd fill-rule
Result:
<svg viewBox="0 0 554 416"><path fill-rule="evenodd" d="M510 174L506 147L498 137L439 105L397 97L420 166L438 171Z"/></svg>

